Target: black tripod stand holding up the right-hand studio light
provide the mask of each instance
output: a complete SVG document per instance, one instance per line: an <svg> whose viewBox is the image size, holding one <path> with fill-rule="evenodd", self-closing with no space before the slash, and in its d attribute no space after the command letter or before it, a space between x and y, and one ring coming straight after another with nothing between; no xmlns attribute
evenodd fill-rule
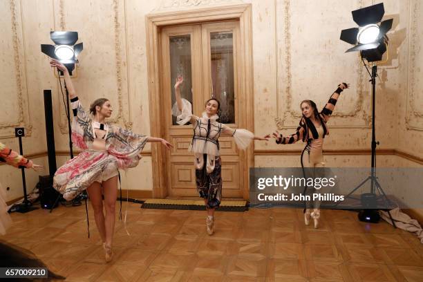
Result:
<svg viewBox="0 0 423 282"><path fill-rule="evenodd" d="M365 65L366 66L366 65ZM366 66L367 68L367 66ZM370 74L370 73L369 73ZM391 203L391 201L388 199L388 197L386 196L384 190L382 189L382 186L379 184L379 181L377 181L377 177L376 177L376 146L379 144L379 142L376 142L376 135L375 135L375 102L376 102L376 77L377 77L377 65L373 64L372 67L372 73L370 74L370 82L372 83L372 161L371 161L371 173L370 176L368 176L368 178L366 178L363 182L361 182L357 187L355 187L355 189L353 189L353 191L350 191L350 193L348 195L346 195L345 198L348 198L349 196L351 196L351 194L353 194L355 191L357 191L357 189L359 189L361 186L363 186L366 182L368 182L368 180L370 180L370 194L362 194L362 198L364 196L364 198L366 198L366 196L370 199L374 199L376 201L376 196L375 196L375 192L377 190L377 192L379 194L382 194L383 199L384 199L384 203L386 205L386 207L388 207L388 205ZM360 212L359 214L359 218L360 220L364 220L364 221L371 221L370 216L367 217L364 213L366 212L366 209L364 210L364 212ZM391 216L391 212L389 212L388 210L388 214L389 214L389 218L391 218L391 222L392 225L397 228L397 226L395 225L395 221L393 220L392 216ZM377 215L379 216L379 215ZM362 217L362 218L361 218ZM378 221L378 220L377 220Z"/></svg>

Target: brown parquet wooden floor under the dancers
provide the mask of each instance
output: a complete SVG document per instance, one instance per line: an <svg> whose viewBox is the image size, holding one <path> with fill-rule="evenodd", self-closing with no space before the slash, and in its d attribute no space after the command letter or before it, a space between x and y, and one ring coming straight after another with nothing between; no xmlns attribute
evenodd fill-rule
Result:
<svg viewBox="0 0 423 282"><path fill-rule="evenodd" d="M208 236L205 212L129 203L130 235L117 221L108 264L89 216L91 238L84 205L15 213L0 240L31 250L66 281L423 281L420 241L354 212L323 210L319 229L304 225L300 209L217 212Z"/></svg>

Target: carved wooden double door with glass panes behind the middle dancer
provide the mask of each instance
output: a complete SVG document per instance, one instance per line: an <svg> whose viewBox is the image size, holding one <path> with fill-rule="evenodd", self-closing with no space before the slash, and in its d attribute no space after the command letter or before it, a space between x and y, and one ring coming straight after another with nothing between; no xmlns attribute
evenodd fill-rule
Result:
<svg viewBox="0 0 423 282"><path fill-rule="evenodd" d="M184 78L181 96L191 103L194 115L201 116L205 101L215 97L220 101L220 122L234 129L242 128L248 115L240 89L242 62L238 62L238 54L243 50L240 38L239 21L171 26L160 32L163 102L160 126L173 144L164 163L170 197L198 196L194 154L188 151L193 129L191 124L176 123L173 88L176 77ZM220 137L219 144L223 197L244 198L248 176L246 153L238 150L232 137Z"/></svg>

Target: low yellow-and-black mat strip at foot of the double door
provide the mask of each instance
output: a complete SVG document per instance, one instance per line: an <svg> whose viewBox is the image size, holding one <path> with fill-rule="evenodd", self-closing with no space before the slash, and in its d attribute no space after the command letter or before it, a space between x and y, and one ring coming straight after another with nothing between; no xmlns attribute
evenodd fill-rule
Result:
<svg viewBox="0 0 423 282"><path fill-rule="evenodd" d="M142 209L188 209L205 211L204 200L172 200L172 199L147 199L141 205ZM216 211L220 212L245 212L248 202L245 200L223 200Z"/></svg>

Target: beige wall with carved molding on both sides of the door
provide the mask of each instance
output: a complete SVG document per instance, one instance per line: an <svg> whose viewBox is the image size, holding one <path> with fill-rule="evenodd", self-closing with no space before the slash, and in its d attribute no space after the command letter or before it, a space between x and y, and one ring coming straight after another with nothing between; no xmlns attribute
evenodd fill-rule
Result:
<svg viewBox="0 0 423 282"><path fill-rule="evenodd" d="M11 138L17 125L30 129L23 139L25 153L46 151L42 91L53 91L57 151L68 150L66 118L59 86L41 54L50 30L77 30L84 42L75 87L83 104L108 97L112 120L137 133L149 134L149 97L145 16L240 3L252 4L254 60L254 128L256 134L278 127L292 133L297 126L299 102L309 98L321 107L339 82L349 82L330 120L326 149L370 149L370 83L357 53L339 40L341 29L355 26L350 11L372 1L139 1L139 0L10 0L0 1L1 100L0 142L17 149ZM393 17L389 34L389 61L379 67L377 79L377 140L379 149L396 149L423 158L422 142L423 7L418 0L384 1L386 18ZM322 20L324 18L324 21ZM17 110L19 109L19 110ZM156 144L155 144L156 146ZM274 142L256 142L256 150L298 150ZM145 149L149 151L149 146ZM415 166L394 155L377 158L381 166ZM46 164L46 157L36 159ZM66 157L58 156L58 164ZM326 156L332 166L359 167L369 156ZM298 156L256 156L256 166L299 166ZM46 169L41 174L46 173ZM0 166L7 199L21 194L19 170ZM123 173L124 174L124 173ZM127 171L122 187L151 190L151 157ZM37 173L28 173L28 187Z"/></svg>

